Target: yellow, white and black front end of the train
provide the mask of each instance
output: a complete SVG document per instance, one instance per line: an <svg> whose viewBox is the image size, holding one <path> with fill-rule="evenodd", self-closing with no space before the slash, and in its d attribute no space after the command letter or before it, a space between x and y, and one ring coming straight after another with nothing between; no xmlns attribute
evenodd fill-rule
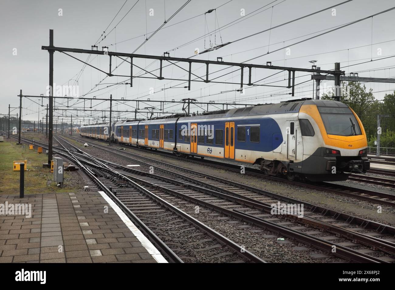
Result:
<svg viewBox="0 0 395 290"><path fill-rule="evenodd" d="M365 129L350 107L336 101L307 100L299 109L301 120L312 125L312 136L303 136L301 174L305 178L346 180L351 172L369 170Z"/></svg>

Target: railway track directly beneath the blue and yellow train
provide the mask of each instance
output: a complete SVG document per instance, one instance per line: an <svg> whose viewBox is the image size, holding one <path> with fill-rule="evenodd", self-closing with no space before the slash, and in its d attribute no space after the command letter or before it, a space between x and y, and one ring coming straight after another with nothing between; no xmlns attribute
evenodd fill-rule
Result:
<svg viewBox="0 0 395 290"><path fill-rule="evenodd" d="M79 141L79 142L84 142L84 143L87 142L88 144L94 144L94 146L100 146L100 148L107 148L107 146L103 146L101 144L98 144L97 142L93 142L91 139L88 139L88 138L82 138L82 137L71 137L71 138L73 138L74 140ZM101 142L100 140L95 140L95 141ZM130 146L122 146L122 145L117 145L117 146L131 148ZM160 152L160 151L155 150L153 152L156 153L156 152ZM130 153L130 154L133 154L133 153ZM181 157L175 157L175 156L169 155L169 154L166 154L166 155L171 156L176 159L182 159L182 160L185 159L185 158L181 158ZM135 156L139 156L139 155L135 155ZM152 160L152 159L150 159L150 160ZM196 162L196 163L200 163L200 164L203 164L206 166L210 165L210 166L215 166L216 168L223 168L226 170L232 170L233 172L240 172L240 165L226 164L226 163L219 162L219 161L201 160L201 159L194 158L194 157L189 158L188 160ZM256 168L251 168L251 167L245 167L245 173L249 174L249 175L257 176L260 178L267 178L267 179L274 180L274 181L286 182L286 183L290 183L293 185L307 187L310 189L315 189L315 190L320 190L320 191L322 191L322 190L330 191L332 193L350 196L353 198L372 202L374 204L384 204L384 205L389 205L389 206L395 206L395 195L392 195L389 193L382 193L380 191L374 191L371 189L360 189L360 188L356 188L353 186L342 185L342 184L333 183L333 182L308 183L308 182L289 181L284 178L267 176L267 175L261 173L260 170L258 170ZM384 183L382 183L381 185L387 186Z"/></svg>

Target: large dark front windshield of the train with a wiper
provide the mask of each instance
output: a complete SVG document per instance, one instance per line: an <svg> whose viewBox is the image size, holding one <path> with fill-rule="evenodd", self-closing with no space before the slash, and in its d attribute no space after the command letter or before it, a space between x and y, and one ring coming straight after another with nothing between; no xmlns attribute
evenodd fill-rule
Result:
<svg viewBox="0 0 395 290"><path fill-rule="evenodd" d="M361 128L350 108L318 107L328 135L361 135Z"/></svg>

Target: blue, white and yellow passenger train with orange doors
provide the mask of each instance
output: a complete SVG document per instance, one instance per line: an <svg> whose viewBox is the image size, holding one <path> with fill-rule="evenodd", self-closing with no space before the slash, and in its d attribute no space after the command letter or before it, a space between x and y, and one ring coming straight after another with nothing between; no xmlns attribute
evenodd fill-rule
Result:
<svg viewBox="0 0 395 290"><path fill-rule="evenodd" d="M367 137L354 110L310 98L276 104L83 125L81 136L256 165L288 180L342 181L366 173Z"/></svg>

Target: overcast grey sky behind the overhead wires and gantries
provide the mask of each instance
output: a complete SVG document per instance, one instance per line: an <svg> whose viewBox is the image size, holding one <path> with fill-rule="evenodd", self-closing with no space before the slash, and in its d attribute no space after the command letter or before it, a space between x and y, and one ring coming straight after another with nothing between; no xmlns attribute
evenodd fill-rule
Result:
<svg viewBox="0 0 395 290"><path fill-rule="evenodd" d="M144 41L145 37L142 35L146 34L146 32L152 32L162 25L165 19L164 7L166 7L167 19L186 2L186 0L139 0L128 15L108 34L136 1L137 0L128 0L126 2L119 15L107 29L106 38L98 44L100 50L102 46L109 46L109 51L133 52ZM205 22L205 16L202 15L182 22L181 24L170 26L171 24L194 17L228 2L228 0L192 0L166 24L164 29L160 30L149 39L149 41L147 41L147 43L136 53L163 55L163 52L168 51L171 56L190 57L194 54L195 48L199 48L200 51L204 50L204 39L182 46L184 43L203 36L207 33L207 26L210 31L213 31L215 28L218 28L218 24L223 26L231 21L239 19L241 17L241 9L245 9L245 19L243 20L242 18L240 20L243 21L229 28L222 29L220 33L213 33L211 35L212 42L215 39L216 44L221 43L221 37L223 43L233 41L342 2L341 0L282 1L283 0L277 0L275 2L273 2L273 0L233 0L219 7L216 10L216 14L214 12L207 14L207 24ZM22 89L23 94L26 95L45 94L46 86L48 85L49 56L47 51L41 50L41 45L49 44L49 29L54 30L55 46L90 49L91 45L94 45L124 2L125 0L1 0L0 24L2 33L0 48L2 54L0 55L0 65L2 70L0 72L0 79L2 82L2 92L0 94L0 113L4 114L8 112L8 104L11 104L11 107L19 106L17 94L19 94L20 89ZM247 19L249 16L248 13L271 2L273 2L273 4L257 11L262 11L261 13ZM272 6L274 7L272 8ZM333 16L331 9L329 9L317 15L293 22L292 24L273 29L270 33L265 32L257 36L249 37L243 41L231 43L216 51L196 56L196 58L216 60L216 57L222 56L224 61L243 62L255 56L265 54L268 51L267 45L269 43L269 36L269 51L273 51L308 38L314 35L312 33L317 34L316 32L320 30L367 17L391 8L392 6L394 5L391 0L354 0L336 7L336 16ZM58 9L62 9L62 16L58 16ZM150 9L153 9L153 16L149 15ZM215 17L217 17L218 24L216 23ZM341 66L344 67L368 61L371 59L371 56L373 59L376 59L395 55L395 37L393 36L394 19L395 10L373 17L373 31L372 20L368 19L292 46L290 47L290 55L285 55L284 50L280 50L252 60L250 63L265 64L267 61L271 61L273 65L310 67L311 64L308 61L318 60L316 65L320 66L321 69L333 69L335 62L341 62ZM166 28L167 26L170 27ZM312 35L305 36L307 34ZM130 38L134 39L124 41ZM120 41L123 42L120 43ZM387 42L380 43L384 41ZM205 38L205 42L206 48L209 47L209 37ZM115 45L115 43L117 43L117 45ZM373 45L371 46L372 43ZM13 55L13 49L15 48L17 49L17 55ZM381 49L381 55L377 54L378 49ZM88 57L86 54L73 54L73 56L84 61ZM286 60L284 60L284 56ZM96 58L92 56L89 61L92 65L107 71L108 58L108 56ZM120 64L120 60L117 60L117 64ZM145 67L150 64L150 61L140 60L136 62L136 64L140 67ZM394 64L395 58L388 58L387 60L378 60L367 64L346 67L342 70L345 70L346 73L365 71L359 73L359 76L365 77L395 77ZM60 52L55 52L54 82L56 85L73 84L82 67L83 64L81 62ZM157 67L158 62L154 62L149 66L148 70L156 69ZM194 71L196 75L203 76L205 74L205 67L199 67L200 66L196 64L192 69L196 70ZM387 67L387 69L369 71L383 67ZM219 69L219 67L213 66L210 71L212 72L216 69ZM138 70L135 69L134 71L137 72ZM221 73L213 74L211 77L217 77L231 71L231 69L226 69ZM253 81L263 79L275 72L277 71L256 70L252 73L252 79ZM124 63L120 65L116 73L120 75L129 75L130 68L128 64ZM248 77L247 70L245 73ZM187 77L186 72L177 67L168 67L164 69L163 74L172 78L185 79ZM297 74L296 76L298 78L296 83L310 79L310 76L300 77L305 74L307 73ZM155 79L134 79L133 88L124 84L105 88L108 84L127 80L127 78L122 77L107 77L107 79L102 81L102 84L95 86L104 77L105 75L103 73L98 73L95 69L86 67L83 73L79 75L78 79L80 95L86 94L86 97L109 97L109 95L112 94L113 98L140 98L141 100L147 100L147 98L151 100L181 100L190 97L205 102L236 101L253 104L276 103L292 98L290 95L285 95L290 92L290 90L271 87L248 88L245 90L244 95L240 95L238 92L218 94L223 91L235 90L238 86L231 84L205 84L201 82L192 82L189 92L184 88L173 88L162 91L161 88L177 86L177 84L181 82ZM284 79L283 73L268 78L266 83L282 79ZM235 71L218 80L239 82L240 72ZM261 83L263 84L263 82ZM333 85L331 81L324 82L324 84L325 83ZM276 82L275 85L285 85L285 82ZM182 86L184 86L184 84ZM393 84L384 83L367 83L366 86L368 89L372 88L373 91L376 92L374 95L378 99L382 99L386 93L381 91L388 90L390 93L390 90L395 88ZM150 88L154 88L154 94L149 94ZM98 91L95 92L96 90ZM88 92L90 93L87 94ZM312 95L312 81L309 81L297 86L294 98L312 97ZM38 100L35 99L35 101ZM71 100L69 105L76 102L78 102L78 100ZM46 105L46 103L47 102L44 101L44 105ZM99 101L93 101L92 105L94 105L95 109L101 110L107 109L109 106L108 103L109 102L99 104ZM128 102L127 104L128 105L114 105L114 109L134 110L131 106L134 107L135 102ZM81 103L79 105L81 105ZM147 107L154 107L155 105L154 103L147 102ZM89 107L88 103L86 107ZM36 103L24 98L23 108L26 108L23 112L24 120L38 119L38 105ZM181 108L182 105L174 106L173 104L169 104L166 105L165 110L180 112ZM214 107L211 107L211 110L214 109ZM222 109L222 106L218 107L218 109ZM43 108L40 107L40 110L40 116L42 116L44 112ZM199 107L192 107L191 110L195 112L202 111ZM79 112L79 116L82 114L82 112ZM57 114L55 114L55 116L56 115ZM68 113L68 115L70 115L70 113ZM98 116L102 116L102 114L100 113ZM132 117L134 114L129 114L128 116ZM138 117L142 118L143 116L140 115Z"/></svg>

